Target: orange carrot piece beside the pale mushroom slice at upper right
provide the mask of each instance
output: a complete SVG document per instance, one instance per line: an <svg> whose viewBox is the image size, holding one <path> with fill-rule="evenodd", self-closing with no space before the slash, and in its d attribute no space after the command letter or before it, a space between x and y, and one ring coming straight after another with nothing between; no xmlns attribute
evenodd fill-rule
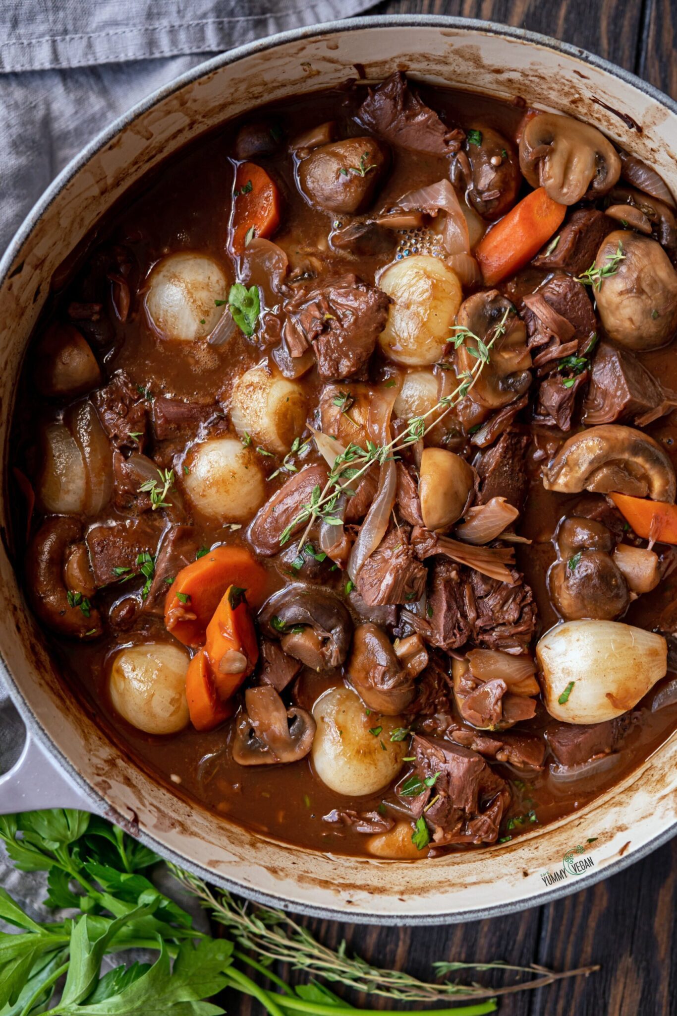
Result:
<svg viewBox="0 0 677 1016"><path fill-rule="evenodd" d="M531 261L561 225L565 213L566 205L553 201L543 187L511 208L475 248L486 284L495 285Z"/></svg>

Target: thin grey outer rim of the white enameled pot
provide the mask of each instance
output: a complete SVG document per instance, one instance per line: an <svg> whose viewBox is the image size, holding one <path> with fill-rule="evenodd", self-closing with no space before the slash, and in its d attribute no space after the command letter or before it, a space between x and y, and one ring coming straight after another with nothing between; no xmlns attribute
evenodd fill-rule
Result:
<svg viewBox="0 0 677 1016"><path fill-rule="evenodd" d="M140 114L150 110L158 102L166 99L174 92L179 91L185 85L204 77L212 71L218 70L229 64L236 63L239 60L256 53L271 50L287 43L300 42L304 39L317 39L337 31L347 33L363 28L388 28L389 26L411 26L414 28L460 28L472 31L481 31L492 36L502 36L503 38L527 43L540 49L551 50L555 53L563 53L564 55L582 63L596 67L612 77L620 78L626 84L629 84L633 88L651 97L656 103L667 108L671 113L677 116L676 101L672 100L669 96L662 92L653 84L644 81L635 74L624 70L622 67L611 63L609 60L599 57L593 53L589 53L587 50L573 46L570 43L559 42L558 40L544 36L540 33L528 31L512 25L498 24L495 21L436 14L389 14L381 16L367 15L364 17L346 18L345 20L326 21L315 25L306 25L299 28L288 29L287 31L268 36L265 39L257 40L252 43L247 43L244 46L227 50L216 57L212 57L210 60L205 60L202 63L197 64L191 70L175 78L173 81L150 92L145 99L131 107L114 120L108 127L95 135L95 137L84 148L82 148L81 151L75 155L52 181L50 186L38 199L17 229L2 258L0 258L0 288L4 285L7 277L10 275L13 262L22 246L30 236L35 226L56 197L61 193L62 189L70 182L71 179L73 179L73 177L76 176L77 173L79 173L79 171L96 152L103 149L117 134L128 127ZM160 855L163 859L173 862L178 867L187 870L193 875L204 878L210 882L215 882L216 884L225 887L228 891L234 892L238 895L244 895L246 898L252 899L255 902L278 909L289 909L292 912L303 914L306 916L337 920L342 924L374 924L382 926L397 925L418 927L433 926L441 923L457 924L465 923L467 920L480 920L485 917L498 916L499 914L515 913L520 910L528 909L531 906L540 906L542 904L551 903L554 900L561 899L562 897L570 895L573 892L578 892L581 889L587 889L590 886L595 885L597 882L609 878L612 875L616 875L625 868L634 864L634 862L646 858L677 834L677 821L675 821L666 829L657 833L641 846L628 849L627 853L613 862L610 862L602 869L593 870L590 875L577 878L576 882L564 883L563 885L553 888L550 891L539 892L536 899L533 897L525 897L513 902L498 903L477 909L456 911L445 915L432 914L426 916L417 914L413 917L409 917L406 914L384 915L377 911L367 910L352 913L346 912L342 909L335 909L330 906L313 905L287 900L285 898L259 892L258 890L250 887L243 888L243 886L238 882L220 874L215 879L213 872L203 868L201 865L196 864L191 860L188 860L182 854L179 854L171 847L166 847L163 843L158 843L152 835L145 832L143 829L135 827L133 831L129 830L129 822L126 822L120 816L114 816L112 814L113 810L108 805L108 802L106 802L106 800L93 789L86 778L75 769L72 763L62 754L60 749L53 742L48 731L43 726L24 699L18 684L7 666L1 649L0 675L2 675L5 685L8 688L10 699L12 700L25 725L26 737L35 737L39 744L48 751L48 754L50 754L53 758L56 757L60 768L81 791L83 799L92 805L98 806L96 810L99 814L107 814L113 820L117 820L119 824L126 827L128 831L131 832L134 838L140 840L140 842L144 843L144 845L150 847L156 852L158 852L157 848L159 847Z"/></svg>

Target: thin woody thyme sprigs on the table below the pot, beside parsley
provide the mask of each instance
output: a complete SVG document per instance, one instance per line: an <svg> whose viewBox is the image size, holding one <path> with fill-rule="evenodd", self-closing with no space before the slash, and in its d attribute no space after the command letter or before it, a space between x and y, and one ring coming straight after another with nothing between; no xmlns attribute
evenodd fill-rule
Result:
<svg viewBox="0 0 677 1016"><path fill-rule="evenodd" d="M398 1002L439 1003L461 999L493 999L497 995L509 995L515 992L543 988L563 977L588 974L597 967L584 967L556 973L542 966L514 966L503 962L493 963L460 963L439 961L433 963L437 975L461 970L512 970L526 974L533 980L506 985L502 988L484 988L477 983L464 985L458 981L419 980L403 970L385 970L373 966L360 956L350 956L345 942L338 949L318 942L311 932L297 924L294 918L282 910L257 905L253 908L245 901L239 900L228 892L212 890L201 879L170 865L170 869L181 884L193 895L197 896L202 906L212 919L218 922L228 932L241 949L248 950L243 954L238 948L233 952L236 959L246 960L255 970L265 973L275 983L283 985L271 974L269 964L274 962L289 963L292 969L303 970L307 974L322 977L330 983L340 983L357 992L371 996L381 996ZM252 954L259 957L257 964L252 961ZM286 1000L276 996L278 1003L285 1006ZM313 1010L317 1012L318 1010ZM435 1010L444 1016L449 1010ZM471 1016L474 1007L457 1010L464 1016ZM327 1010L329 1012L329 1010ZM336 1012L336 1010L335 1010ZM347 1010L346 1010L347 1016Z"/></svg>

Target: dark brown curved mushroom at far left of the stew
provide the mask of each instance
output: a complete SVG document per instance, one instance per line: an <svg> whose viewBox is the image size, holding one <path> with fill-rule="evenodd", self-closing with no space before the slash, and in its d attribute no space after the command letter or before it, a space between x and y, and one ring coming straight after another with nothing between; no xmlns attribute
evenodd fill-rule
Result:
<svg viewBox="0 0 677 1016"><path fill-rule="evenodd" d="M74 518L49 518L33 536L26 556L26 580L36 614L52 631L69 638L89 639L101 634L101 619L83 589L69 588L64 571L83 546L82 524ZM86 554L86 550L85 550ZM69 580L75 569L69 569Z"/></svg>

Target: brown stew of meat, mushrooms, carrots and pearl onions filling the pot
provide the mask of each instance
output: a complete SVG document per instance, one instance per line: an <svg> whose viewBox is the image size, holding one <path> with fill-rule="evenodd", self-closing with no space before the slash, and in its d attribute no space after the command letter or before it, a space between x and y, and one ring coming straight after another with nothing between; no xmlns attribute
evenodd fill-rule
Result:
<svg viewBox="0 0 677 1016"><path fill-rule="evenodd" d="M315 849L613 785L677 721L676 258L595 127L402 73L172 156L55 273L17 395L64 693Z"/></svg>

